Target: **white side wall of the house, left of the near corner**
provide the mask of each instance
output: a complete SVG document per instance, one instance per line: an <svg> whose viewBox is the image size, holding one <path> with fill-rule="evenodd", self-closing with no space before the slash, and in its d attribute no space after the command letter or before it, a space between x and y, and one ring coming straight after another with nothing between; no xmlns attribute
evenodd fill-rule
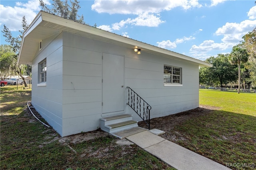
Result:
<svg viewBox="0 0 256 170"><path fill-rule="evenodd" d="M43 39L42 49L32 61L32 105L36 111L62 134L62 34ZM47 85L40 83L40 63L46 60Z"/></svg>

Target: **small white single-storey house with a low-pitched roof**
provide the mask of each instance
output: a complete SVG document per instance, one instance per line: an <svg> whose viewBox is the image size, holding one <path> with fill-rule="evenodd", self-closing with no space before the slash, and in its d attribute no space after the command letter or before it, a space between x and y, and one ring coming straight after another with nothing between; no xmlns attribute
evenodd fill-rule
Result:
<svg viewBox="0 0 256 170"><path fill-rule="evenodd" d="M150 118L194 109L198 67L212 66L42 11L24 32L18 63L32 64L32 105L62 137L96 130L109 116L141 121L127 87L152 107Z"/></svg>

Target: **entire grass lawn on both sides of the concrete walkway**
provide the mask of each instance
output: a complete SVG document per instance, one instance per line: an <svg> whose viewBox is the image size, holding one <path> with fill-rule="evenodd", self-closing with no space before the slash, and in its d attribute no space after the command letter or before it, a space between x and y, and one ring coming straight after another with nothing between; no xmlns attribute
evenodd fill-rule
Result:
<svg viewBox="0 0 256 170"><path fill-rule="evenodd" d="M187 149L232 169L256 163L256 94L200 89L193 115L166 133ZM99 137L82 143L60 143L61 137L28 112L31 89L1 87L1 169L173 169L136 145ZM76 152L74 152L72 149ZM238 166L239 165L239 166ZM249 165L250 167L243 167Z"/></svg>

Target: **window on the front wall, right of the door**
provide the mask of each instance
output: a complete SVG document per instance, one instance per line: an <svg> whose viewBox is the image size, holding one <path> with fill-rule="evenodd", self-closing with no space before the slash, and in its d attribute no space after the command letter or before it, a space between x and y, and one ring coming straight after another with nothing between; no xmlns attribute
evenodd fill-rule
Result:
<svg viewBox="0 0 256 170"><path fill-rule="evenodd" d="M164 84L182 84L180 67L164 65Z"/></svg>

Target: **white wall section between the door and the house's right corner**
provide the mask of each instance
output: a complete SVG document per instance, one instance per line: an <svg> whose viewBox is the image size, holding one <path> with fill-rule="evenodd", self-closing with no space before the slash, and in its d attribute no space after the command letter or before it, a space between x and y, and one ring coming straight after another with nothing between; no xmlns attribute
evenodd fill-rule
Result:
<svg viewBox="0 0 256 170"><path fill-rule="evenodd" d="M131 51L133 54L134 51ZM180 83L164 84L164 65L180 68ZM176 73L177 74L177 73ZM126 55L125 86L132 88L152 109L150 118L162 117L198 107L198 65L143 52ZM163 86L164 84L164 86ZM128 95L126 96L127 102ZM126 106L126 113L134 113ZM133 119L141 121L137 114Z"/></svg>

